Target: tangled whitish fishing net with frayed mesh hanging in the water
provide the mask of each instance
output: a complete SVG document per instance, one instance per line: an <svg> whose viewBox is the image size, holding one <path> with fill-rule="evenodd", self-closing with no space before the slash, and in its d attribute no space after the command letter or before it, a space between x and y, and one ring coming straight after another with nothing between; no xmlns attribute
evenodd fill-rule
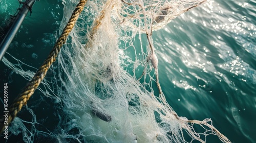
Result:
<svg viewBox="0 0 256 143"><path fill-rule="evenodd" d="M35 132L65 142L205 142L208 135L230 142L210 119L179 117L166 102L158 79L153 31L204 1L88 1L52 67L54 78L44 81L47 92L41 90L59 103L65 115L58 116L65 123L53 132L35 126L28 130L15 118L14 134L17 128L27 129L27 142L34 141ZM61 27L75 3L63 3ZM30 124L35 123L36 119Z"/></svg>

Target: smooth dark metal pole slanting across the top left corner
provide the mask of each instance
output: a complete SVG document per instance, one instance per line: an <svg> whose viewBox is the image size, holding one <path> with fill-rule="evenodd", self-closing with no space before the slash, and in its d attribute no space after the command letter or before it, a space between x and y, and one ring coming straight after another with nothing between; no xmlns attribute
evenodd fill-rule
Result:
<svg viewBox="0 0 256 143"><path fill-rule="evenodd" d="M4 57L8 47L11 44L14 36L16 35L20 25L22 25L24 18L26 17L26 15L29 12L29 8L32 8L34 3L35 3L35 0L27 0L26 2L23 2L23 6L19 10L18 14L16 15L15 21L12 23L8 32L4 36L4 39L0 43L0 61Z"/></svg>

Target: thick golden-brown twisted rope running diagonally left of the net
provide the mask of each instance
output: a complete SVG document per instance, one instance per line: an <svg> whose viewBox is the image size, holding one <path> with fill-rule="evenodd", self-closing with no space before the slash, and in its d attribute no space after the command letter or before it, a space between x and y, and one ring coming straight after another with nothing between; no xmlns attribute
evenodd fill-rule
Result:
<svg viewBox="0 0 256 143"><path fill-rule="evenodd" d="M60 48L63 44L65 44L69 33L73 29L76 20L78 19L79 14L82 12L84 5L86 5L87 0L80 0L79 4L77 4L75 10L72 13L69 22L67 23L65 29L63 30L61 36L56 41L51 53L48 58L44 61L41 67L36 71L32 80L23 88L22 92L18 95L18 97L13 101L8 111L8 126L14 120L17 113L22 109L24 105L27 104L29 98L32 96L40 82L45 78L46 73L52 63L56 60L58 53L60 52ZM4 120L0 123L0 134L2 134L4 127Z"/></svg>

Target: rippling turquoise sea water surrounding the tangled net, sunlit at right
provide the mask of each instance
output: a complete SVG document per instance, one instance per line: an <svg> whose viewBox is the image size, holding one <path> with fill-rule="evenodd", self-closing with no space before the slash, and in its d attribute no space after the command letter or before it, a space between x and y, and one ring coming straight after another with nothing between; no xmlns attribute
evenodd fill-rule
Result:
<svg viewBox="0 0 256 143"><path fill-rule="evenodd" d="M255 6L256 1L209 1L153 32L160 84L170 106L179 116L190 120L211 118L213 125L231 142L256 142ZM17 1L0 1L1 27L17 7ZM36 2L8 53L39 67L56 40L54 34L62 19L62 10L61 1ZM11 60L8 55L6 58ZM3 62L0 66L1 85L9 84L12 99L27 81ZM35 94L38 96L33 96L28 105L35 107L37 121L51 130L58 121L47 123L44 119L55 118L54 110L61 111L49 107L50 99L43 98L40 92ZM40 106L44 108L38 108ZM18 116L31 121L32 116L27 116L27 112L23 109ZM12 135L8 142L14 138L22 140L22 136Z"/></svg>

